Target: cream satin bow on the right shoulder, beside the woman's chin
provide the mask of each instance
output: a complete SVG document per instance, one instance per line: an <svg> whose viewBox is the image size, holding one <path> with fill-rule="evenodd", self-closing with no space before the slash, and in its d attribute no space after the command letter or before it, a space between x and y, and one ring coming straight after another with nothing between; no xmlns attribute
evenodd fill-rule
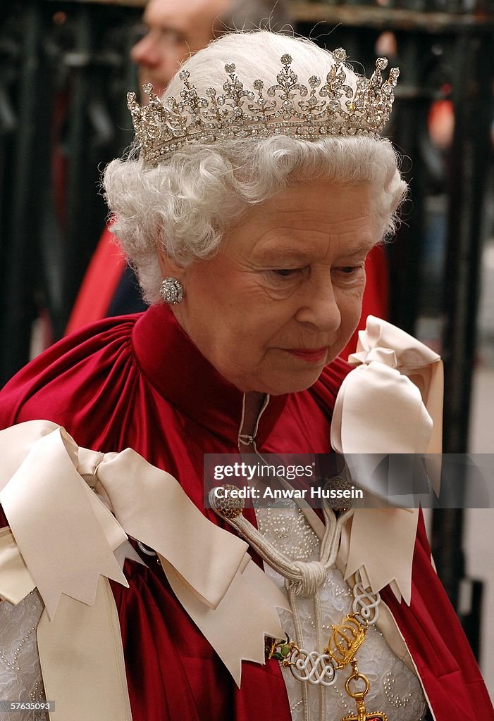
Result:
<svg viewBox="0 0 494 721"><path fill-rule="evenodd" d="M388 454L441 453L443 366L433 350L374 316L348 362L356 368L335 402L331 444L353 459L356 484L379 497L369 463L375 468ZM438 493L440 464L429 461L428 470ZM389 584L410 605L417 522L415 508L356 509L340 547L345 578L360 570L374 593Z"/></svg>

